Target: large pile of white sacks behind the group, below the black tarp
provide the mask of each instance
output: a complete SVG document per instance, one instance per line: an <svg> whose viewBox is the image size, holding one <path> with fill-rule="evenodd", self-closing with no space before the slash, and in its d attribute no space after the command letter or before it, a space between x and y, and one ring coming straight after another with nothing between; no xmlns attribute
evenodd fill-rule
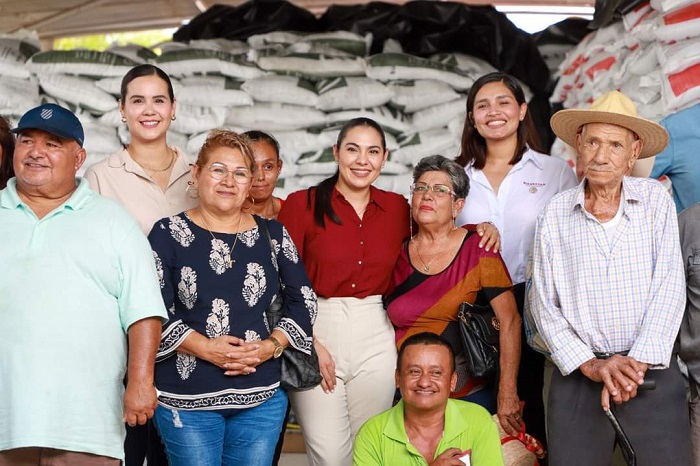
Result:
<svg viewBox="0 0 700 466"><path fill-rule="evenodd" d="M160 55L139 46L40 52L27 64L13 55L13 75L0 70L0 89L8 89L2 92L6 100L16 99L9 105L16 115L42 98L75 110L86 126L89 164L128 143L117 105L121 78L138 63L154 63L171 76L177 99L168 143L194 160L213 128L270 132L285 162L280 196L332 174L337 167L332 146L340 127L367 116L385 129L390 150L377 186L408 196L418 160L458 154L466 92L495 68L463 54L411 56L393 41L386 53L368 56L370 44L370 35L346 31L276 31L247 42L163 43L155 47Z"/></svg>

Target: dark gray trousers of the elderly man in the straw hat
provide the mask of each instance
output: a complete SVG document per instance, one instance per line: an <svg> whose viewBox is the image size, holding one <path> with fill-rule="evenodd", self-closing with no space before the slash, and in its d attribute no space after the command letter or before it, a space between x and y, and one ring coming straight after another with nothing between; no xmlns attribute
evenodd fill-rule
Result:
<svg viewBox="0 0 700 466"><path fill-rule="evenodd" d="M665 370L646 378L656 389L615 406L622 428L637 453L638 466L691 464L690 421L682 375L675 355ZM580 371L564 377L555 369L549 389L547 436L549 466L609 466L615 431L600 406L603 386Z"/></svg>

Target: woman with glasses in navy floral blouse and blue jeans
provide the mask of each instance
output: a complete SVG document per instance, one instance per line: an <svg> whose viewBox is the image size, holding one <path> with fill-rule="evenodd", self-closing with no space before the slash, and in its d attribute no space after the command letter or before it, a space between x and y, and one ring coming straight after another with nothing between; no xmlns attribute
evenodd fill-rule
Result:
<svg viewBox="0 0 700 466"><path fill-rule="evenodd" d="M192 168L199 206L149 235L170 313L155 423L171 466L269 465L287 408L279 357L312 345L316 295L294 243L279 222L242 209L255 171L248 143L212 131ZM283 317L270 328L279 293Z"/></svg>

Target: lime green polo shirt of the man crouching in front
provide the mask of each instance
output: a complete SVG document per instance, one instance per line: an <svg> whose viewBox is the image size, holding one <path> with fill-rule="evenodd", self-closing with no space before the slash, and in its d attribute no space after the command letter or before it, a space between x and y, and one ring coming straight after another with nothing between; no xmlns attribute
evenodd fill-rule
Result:
<svg viewBox="0 0 700 466"><path fill-rule="evenodd" d="M425 458L408 441L403 400L367 421L355 438L353 466L418 466ZM461 400L447 400L445 432L435 456L449 448L471 450L472 466L502 466L501 440L488 411Z"/></svg>

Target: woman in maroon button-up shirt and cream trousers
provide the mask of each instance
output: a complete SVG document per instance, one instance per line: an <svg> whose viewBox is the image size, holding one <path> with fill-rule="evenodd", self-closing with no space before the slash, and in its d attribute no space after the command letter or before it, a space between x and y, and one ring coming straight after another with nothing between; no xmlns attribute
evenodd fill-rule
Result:
<svg viewBox="0 0 700 466"><path fill-rule="evenodd" d="M314 341L323 382L289 394L311 465L350 465L360 426L391 407L396 347L381 296L410 233L406 199L372 186L389 155L381 126L349 121L333 155L335 175L291 194L278 216L319 298Z"/></svg>

